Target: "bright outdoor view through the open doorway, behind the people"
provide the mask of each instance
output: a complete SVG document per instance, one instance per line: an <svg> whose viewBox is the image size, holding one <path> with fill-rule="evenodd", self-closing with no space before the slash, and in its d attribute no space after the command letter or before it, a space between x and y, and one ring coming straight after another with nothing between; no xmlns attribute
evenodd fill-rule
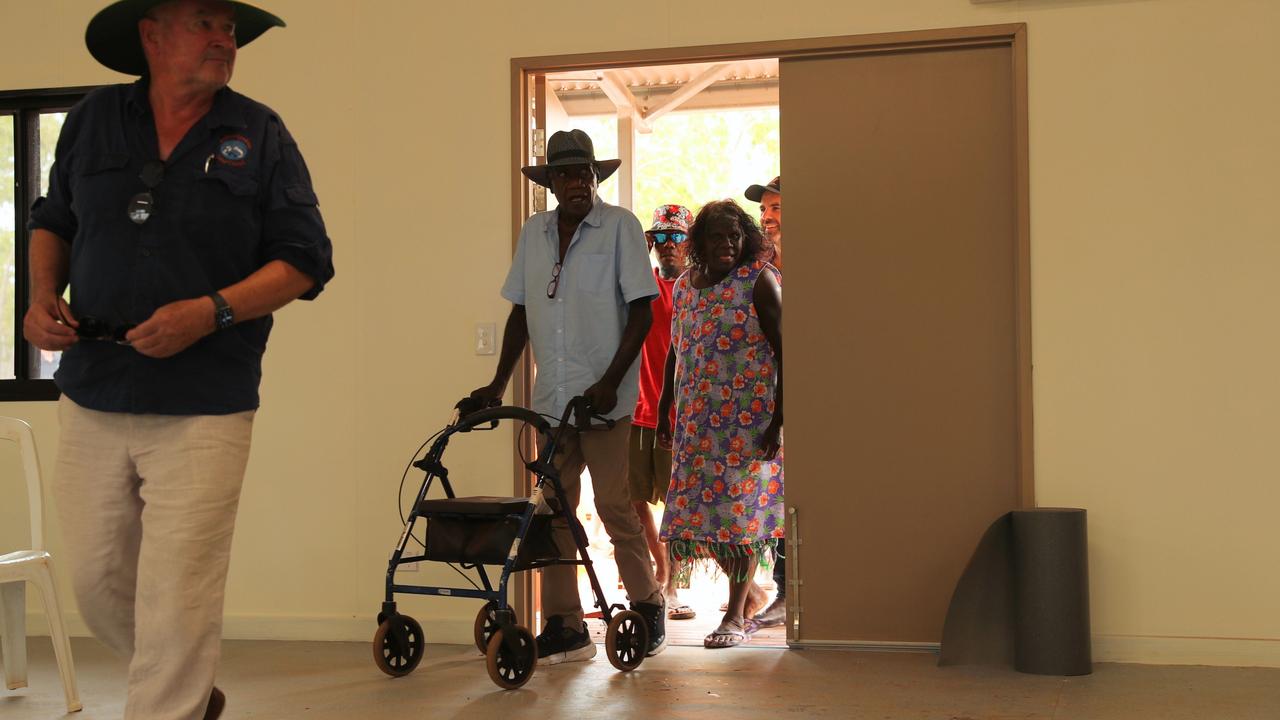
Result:
<svg viewBox="0 0 1280 720"><path fill-rule="evenodd" d="M660 206L682 205L696 215L704 204L723 199L735 200L759 220L759 202L744 192L780 174L777 59L585 68L548 73L540 86L545 137L582 129L591 137L596 158L621 159L618 172L600 183L599 197L631 210L645 229ZM534 206L553 209L556 199L543 193ZM650 261L659 270L657 249ZM664 329L669 333L669 327ZM641 393L646 391L654 388L641 380ZM655 405L657 397L648 402ZM584 470L579 519L588 529L596 574L612 601L623 591L612 544L595 515L589 478ZM664 503L646 503L645 510L652 528L660 532ZM768 606L778 589L771 568L755 573L755 582L763 593L756 605ZM668 612L668 642L701 646L721 623L728 580L709 561L699 561L673 584L678 605L668 610L680 611ZM579 587L584 598L591 596L585 570L579 571ZM603 642L604 624L589 614L588 625ZM786 629L782 624L762 628L750 644L785 647Z"/></svg>

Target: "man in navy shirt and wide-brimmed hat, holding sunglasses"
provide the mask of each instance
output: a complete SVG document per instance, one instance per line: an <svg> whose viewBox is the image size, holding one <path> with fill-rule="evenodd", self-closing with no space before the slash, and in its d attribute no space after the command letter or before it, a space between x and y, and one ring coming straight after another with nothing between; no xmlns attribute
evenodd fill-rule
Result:
<svg viewBox="0 0 1280 720"><path fill-rule="evenodd" d="M84 621L129 660L127 719L221 714L223 596L271 313L333 277L297 143L227 87L237 47L283 24L216 0L101 10L90 53L142 77L72 109L32 211L23 332L63 352L54 487Z"/></svg>

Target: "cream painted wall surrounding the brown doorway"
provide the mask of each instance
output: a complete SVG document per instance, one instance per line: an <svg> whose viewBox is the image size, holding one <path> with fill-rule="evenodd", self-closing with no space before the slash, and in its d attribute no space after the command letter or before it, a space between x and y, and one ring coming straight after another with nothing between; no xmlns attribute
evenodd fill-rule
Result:
<svg viewBox="0 0 1280 720"><path fill-rule="evenodd" d="M1280 665L1280 4L262 4L289 27L234 86L298 138L338 277L273 334L229 637L372 633L401 470L490 374L472 327L507 310L512 56L1025 22L1037 498L1089 510L1096 657ZM4 4L26 32L0 46L0 88L115 81L81 41L101 5ZM51 406L5 411L51 468ZM458 482L506 492L507 437L468 441ZM467 642L472 603L404 605Z"/></svg>

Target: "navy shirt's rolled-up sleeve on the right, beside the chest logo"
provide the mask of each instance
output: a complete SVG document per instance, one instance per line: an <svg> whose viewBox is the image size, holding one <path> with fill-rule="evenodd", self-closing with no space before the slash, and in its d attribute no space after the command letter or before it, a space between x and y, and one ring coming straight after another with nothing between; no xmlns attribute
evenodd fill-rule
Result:
<svg viewBox="0 0 1280 720"><path fill-rule="evenodd" d="M333 243L298 143L278 118L270 120L268 143L273 168L262 197L260 261L283 260L311 277L315 284L301 299L314 300L333 279Z"/></svg>

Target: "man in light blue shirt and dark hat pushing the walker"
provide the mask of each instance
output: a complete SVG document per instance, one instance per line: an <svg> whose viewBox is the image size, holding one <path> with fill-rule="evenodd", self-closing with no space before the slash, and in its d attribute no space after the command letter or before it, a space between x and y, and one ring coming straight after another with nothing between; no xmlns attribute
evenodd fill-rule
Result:
<svg viewBox="0 0 1280 720"><path fill-rule="evenodd" d="M502 296L511 315L502 336L502 354L493 382L471 397L483 405L500 401L526 345L534 348L538 377L534 410L563 416L576 396L591 411L616 420L609 430L570 433L554 464L577 507L581 473L591 473L595 510L613 542L618 575L631 607L649 625L648 655L667 647L662 588L649 562L640 519L631 507L627 487L627 438L639 396L640 364L658 295L644 228L628 210L596 196L600 181L613 174L621 160L596 160L591 138L580 129L557 132L547 141L547 164L521 168L529 179L548 187L558 206L525 222L516 245ZM573 547L563 523L556 524L556 542ZM582 623L577 568L553 565L543 573L543 616L538 635L539 662L554 665L590 660L595 644Z"/></svg>

